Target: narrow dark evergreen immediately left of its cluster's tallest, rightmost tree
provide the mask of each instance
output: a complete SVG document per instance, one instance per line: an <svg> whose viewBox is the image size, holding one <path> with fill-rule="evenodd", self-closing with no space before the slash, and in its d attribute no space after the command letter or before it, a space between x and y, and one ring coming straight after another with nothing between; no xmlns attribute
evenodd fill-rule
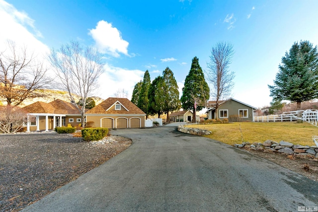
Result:
<svg viewBox="0 0 318 212"><path fill-rule="evenodd" d="M158 87L161 86L163 81L163 78L161 76L157 76L153 82L151 83L149 87L148 92L148 113L151 115L158 114L158 118L160 118L162 111L162 104L163 104L163 98L161 96L162 94L162 88Z"/></svg>

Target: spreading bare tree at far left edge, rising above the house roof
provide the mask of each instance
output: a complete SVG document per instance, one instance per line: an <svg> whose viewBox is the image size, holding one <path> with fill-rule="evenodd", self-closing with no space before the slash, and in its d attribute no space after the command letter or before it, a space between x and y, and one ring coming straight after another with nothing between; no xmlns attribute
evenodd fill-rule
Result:
<svg viewBox="0 0 318 212"><path fill-rule="evenodd" d="M29 53L26 47L17 48L8 40L6 49L0 52L0 98L7 105L19 105L25 99L43 97L36 90L50 84L47 70L34 53Z"/></svg>

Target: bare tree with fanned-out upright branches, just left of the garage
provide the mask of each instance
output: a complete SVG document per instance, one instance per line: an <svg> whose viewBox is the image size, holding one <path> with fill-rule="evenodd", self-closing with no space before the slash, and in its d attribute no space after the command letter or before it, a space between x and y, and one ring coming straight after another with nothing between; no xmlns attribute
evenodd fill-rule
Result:
<svg viewBox="0 0 318 212"><path fill-rule="evenodd" d="M49 60L61 80L61 89L67 90L71 102L75 94L80 96L82 105L75 104L81 114L81 124L84 127L85 107L87 97L96 88L97 78L103 72L101 55L96 49L83 49L78 42L71 41L62 45L59 50L52 49Z"/></svg>

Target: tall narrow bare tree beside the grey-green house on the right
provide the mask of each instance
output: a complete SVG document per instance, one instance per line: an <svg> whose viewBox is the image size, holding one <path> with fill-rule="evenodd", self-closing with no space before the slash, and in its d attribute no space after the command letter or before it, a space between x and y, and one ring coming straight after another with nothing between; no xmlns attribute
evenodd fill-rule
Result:
<svg viewBox="0 0 318 212"><path fill-rule="evenodd" d="M219 42L211 50L210 63L207 64L207 81L210 83L211 96L216 100L216 110L221 98L227 99L234 86L234 72L229 70L234 55L233 45ZM217 113L218 114L218 113Z"/></svg>

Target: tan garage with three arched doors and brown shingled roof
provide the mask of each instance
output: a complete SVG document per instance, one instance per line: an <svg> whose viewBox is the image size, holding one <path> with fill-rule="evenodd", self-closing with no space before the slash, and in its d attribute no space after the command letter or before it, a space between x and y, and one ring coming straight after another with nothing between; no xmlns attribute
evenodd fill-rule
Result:
<svg viewBox="0 0 318 212"><path fill-rule="evenodd" d="M146 114L127 98L110 97L86 112L92 127L143 128Z"/></svg>

